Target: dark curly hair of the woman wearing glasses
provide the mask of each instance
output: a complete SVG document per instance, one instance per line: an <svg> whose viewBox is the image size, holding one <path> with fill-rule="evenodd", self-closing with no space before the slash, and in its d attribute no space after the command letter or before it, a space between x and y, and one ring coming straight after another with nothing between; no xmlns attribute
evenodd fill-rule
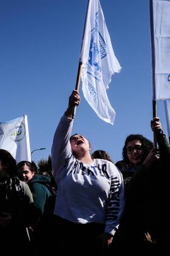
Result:
<svg viewBox="0 0 170 256"><path fill-rule="evenodd" d="M130 164L130 162L129 162L129 158L127 157L126 147L127 147L127 143L129 141L133 141L133 140L139 140L141 142L141 147L144 152L143 161L146 159L146 157L148 156L151 149L154 148L154 144L150 140L148 140L147 138L144 138L140 134L131 134L131 135L127 136L125 143L124 143L122 156L123 156L124 162L126 162L128 165Z"/></svg>

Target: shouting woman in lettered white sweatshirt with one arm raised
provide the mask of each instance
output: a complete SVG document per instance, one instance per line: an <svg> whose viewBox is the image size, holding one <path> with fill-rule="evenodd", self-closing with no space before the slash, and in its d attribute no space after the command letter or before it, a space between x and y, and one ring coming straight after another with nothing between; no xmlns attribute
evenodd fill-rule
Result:
<svg viewBox="0 0 170 256"><path fill-rule="evenodd" d="M83 135L70 137L73 108L79 103L78 91L73 90L53 138L52 166L58 185L54 242L74 253L78 247L101 252L112 242L123 213L123 179L113 163L92 159Z"/></svg>

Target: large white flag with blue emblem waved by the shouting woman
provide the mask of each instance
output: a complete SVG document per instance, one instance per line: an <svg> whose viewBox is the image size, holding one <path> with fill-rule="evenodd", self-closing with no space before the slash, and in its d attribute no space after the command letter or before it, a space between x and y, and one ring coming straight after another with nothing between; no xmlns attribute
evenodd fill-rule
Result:
<svg viewBox="0 0 170 256"><path fill-rule="evenodd" d="M89 0L80 62L83 94L97 115L113 124L115 111L107 98L112 74L120 72L99 0Z"/></svg>

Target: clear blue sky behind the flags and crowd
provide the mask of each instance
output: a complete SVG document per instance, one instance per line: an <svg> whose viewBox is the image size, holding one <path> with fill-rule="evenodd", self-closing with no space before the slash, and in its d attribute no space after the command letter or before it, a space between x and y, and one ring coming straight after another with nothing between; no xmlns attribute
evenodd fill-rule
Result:
<svg viewBox="0 0 170 256"><path fill-rule="evenodd" d="M87 0L0 0L0 121L28 115L31 149L46 148L33 153L35 161L50 154L75 87L86 6ZM107 91L115 123L98 118L80 90L73 132L117 162L129 133L152 140L149 0L101 0L101 7L122 66ZM162 102L157 110L166 133Z"/></svg>

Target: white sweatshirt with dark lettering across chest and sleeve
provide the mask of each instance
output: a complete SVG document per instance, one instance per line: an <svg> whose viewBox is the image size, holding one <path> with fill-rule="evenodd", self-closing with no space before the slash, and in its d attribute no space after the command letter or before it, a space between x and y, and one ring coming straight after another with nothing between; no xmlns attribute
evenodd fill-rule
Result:
<svg viewBox="0 0 170 256"><path fill-rule="evenodd" d="M64 115L53 138L52 166L58 185L54 213L75 223L103 223L104 232L114 235L124 207L123 178L107 160L94 159L86 165L72 155L72 126L73 119Z"/></svg>

